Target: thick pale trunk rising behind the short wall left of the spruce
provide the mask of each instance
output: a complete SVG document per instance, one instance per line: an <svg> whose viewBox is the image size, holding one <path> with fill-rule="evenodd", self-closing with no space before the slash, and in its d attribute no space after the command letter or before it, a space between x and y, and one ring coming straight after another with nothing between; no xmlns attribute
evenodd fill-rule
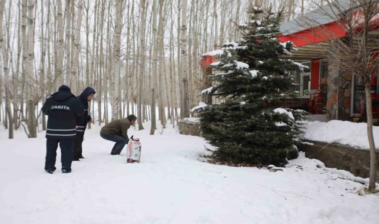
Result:
<svg viewBox="0 0 379 224"><path fill-rule="evenodd" d="M182 0L181 76L182 76L181 117L184 118L184 117L189 117L189 84L188 84L188 52L187 52L187 0Z"/></svg>

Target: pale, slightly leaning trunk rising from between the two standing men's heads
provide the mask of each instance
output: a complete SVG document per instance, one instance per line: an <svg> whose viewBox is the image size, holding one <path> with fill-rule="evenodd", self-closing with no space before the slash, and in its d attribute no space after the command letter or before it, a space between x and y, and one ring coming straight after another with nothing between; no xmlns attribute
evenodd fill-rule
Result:
<svg viewBox="0 0 379 224"><path fill-rule="evenodd" d="M73 58L71 66L71 93L78 95L78 62L80 54L80 28L82 26L82 11L83 11L83 0L79 0L78 3L78 19L76 21L75 36L72 36L74 42L73 47Z"/></svg>

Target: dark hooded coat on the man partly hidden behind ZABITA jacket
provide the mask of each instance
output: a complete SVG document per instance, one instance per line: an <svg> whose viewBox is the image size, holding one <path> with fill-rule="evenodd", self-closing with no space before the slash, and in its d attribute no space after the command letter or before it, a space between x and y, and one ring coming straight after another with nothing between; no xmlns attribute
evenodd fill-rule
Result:
<svg viewBox="0 0 379 224"><path fill-rule="evenodd" d="M95 90L91 87L87 87L79 97L77 97L80 106L84 109L84 113L81 116L76 117L76 125L78 128L76 129L77 135L84 135L84 131L87 128L87 123L92 119L91 115L88 111L88 100L87 97L91 94L95 94Z"/></svg>

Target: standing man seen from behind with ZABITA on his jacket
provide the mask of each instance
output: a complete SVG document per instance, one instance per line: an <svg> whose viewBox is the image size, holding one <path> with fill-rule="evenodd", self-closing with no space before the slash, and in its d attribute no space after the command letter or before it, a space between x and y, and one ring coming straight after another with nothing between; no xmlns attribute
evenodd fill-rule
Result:
<svg viewBox="0 0 379 224"><path fill-rule="evenodd" d="M70 88L63 85L46 100L42 112L48 115L45 170L48 173L56 170L56 150L59 143L62 173L70 173L76 138L76 116L84 113L83 108L80 107Z"/></svg>

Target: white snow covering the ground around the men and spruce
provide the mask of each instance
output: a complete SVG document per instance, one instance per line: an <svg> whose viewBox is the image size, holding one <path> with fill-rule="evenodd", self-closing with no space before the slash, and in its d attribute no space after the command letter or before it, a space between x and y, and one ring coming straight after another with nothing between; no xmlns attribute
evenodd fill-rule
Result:
<svg viewBox="0 0 379 224"><path fill-rule="evenodd" d="M317 125L309 123L307 131ZM359 196L362 184L339 178L352 174L323 168L303 153L277 172L208 164L199 161L204 145L211 147L204 139L170 125L149 135L150 125L144 126L129 129L143 144L141 163L127 164L125 149L110 155L113 143L93 125L83 142L86 158L62 174L58 149L52 175L43 170L44 132L27 139L19 130L6 139L1 126L0 223L379 223L378 196Z"/></svg>

